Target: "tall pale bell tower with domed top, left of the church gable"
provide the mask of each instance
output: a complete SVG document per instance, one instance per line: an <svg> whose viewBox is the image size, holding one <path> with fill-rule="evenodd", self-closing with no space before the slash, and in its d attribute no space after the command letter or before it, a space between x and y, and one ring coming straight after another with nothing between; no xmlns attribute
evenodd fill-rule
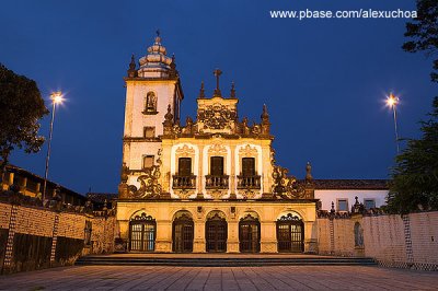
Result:
<svg viewBox="0 0 438 291"><path fill-rule="evenodd" d="M140 187L137 177L159 163L160 136L168 108L180 120L184 97L175 57L169 57L157 31L154 43L136 65L132 55L127 70L122 184ZM120 191L120 196L123 196Z"/></svg>

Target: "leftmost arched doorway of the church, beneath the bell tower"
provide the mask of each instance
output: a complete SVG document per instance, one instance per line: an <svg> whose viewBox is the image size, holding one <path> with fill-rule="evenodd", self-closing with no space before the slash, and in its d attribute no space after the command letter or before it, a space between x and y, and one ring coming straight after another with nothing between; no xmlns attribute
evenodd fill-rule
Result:
<svg viewBox="0 0 438 291"><path fill-rule="evenodd" d="M155 249L157 222L142 212L129 221L129 251L153 252Z"/></svg>

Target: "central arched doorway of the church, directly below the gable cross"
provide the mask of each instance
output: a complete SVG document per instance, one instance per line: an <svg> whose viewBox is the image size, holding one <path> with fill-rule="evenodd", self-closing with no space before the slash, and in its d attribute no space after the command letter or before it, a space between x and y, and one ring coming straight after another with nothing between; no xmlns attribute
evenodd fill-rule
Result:
<svg viewBox="0 0 438 291"><path fill-rule="evenodd" d="M227 237L228 226L223 212L210 212L206 222L206 251L210 253L227 252Z"/></svg>

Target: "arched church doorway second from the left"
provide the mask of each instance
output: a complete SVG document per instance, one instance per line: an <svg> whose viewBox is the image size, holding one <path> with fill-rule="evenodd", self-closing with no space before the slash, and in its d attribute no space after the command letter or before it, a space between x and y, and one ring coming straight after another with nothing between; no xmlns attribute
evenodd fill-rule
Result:
<svg viewBox="0 0 438 291"><path fill-rule="evenodd" d="M173 252L193 252L194 223L188 211L180 211L172 223Z"/></svg>

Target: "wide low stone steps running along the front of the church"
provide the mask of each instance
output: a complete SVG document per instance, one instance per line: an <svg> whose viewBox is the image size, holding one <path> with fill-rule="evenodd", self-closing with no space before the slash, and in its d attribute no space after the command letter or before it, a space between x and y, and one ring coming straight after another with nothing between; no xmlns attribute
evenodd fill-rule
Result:
<svg viewBox="0 0 438 291"><path fill-rule="evenodd" d="M264 267L264 266L377 266L372 258L285 255L265 256L208 256L193 254L178 256L131 256L131 255L92 255L80 257L76 266L184 266L184 267Z"/></svg>

